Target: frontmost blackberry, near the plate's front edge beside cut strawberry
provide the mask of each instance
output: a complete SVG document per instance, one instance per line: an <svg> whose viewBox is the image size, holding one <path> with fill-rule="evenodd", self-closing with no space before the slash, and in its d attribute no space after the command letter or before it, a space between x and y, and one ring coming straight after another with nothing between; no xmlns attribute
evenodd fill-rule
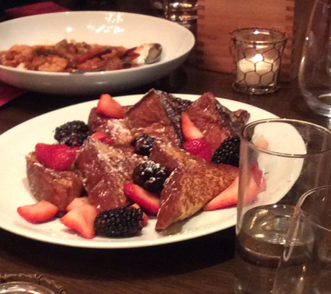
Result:
<svg viewBox="0 0 331 294"><path fill-rule="evenodd" d="M94 220L95 234L105 237L132 237L144 226L143 212L132 206L100 212Z"/></svg>

